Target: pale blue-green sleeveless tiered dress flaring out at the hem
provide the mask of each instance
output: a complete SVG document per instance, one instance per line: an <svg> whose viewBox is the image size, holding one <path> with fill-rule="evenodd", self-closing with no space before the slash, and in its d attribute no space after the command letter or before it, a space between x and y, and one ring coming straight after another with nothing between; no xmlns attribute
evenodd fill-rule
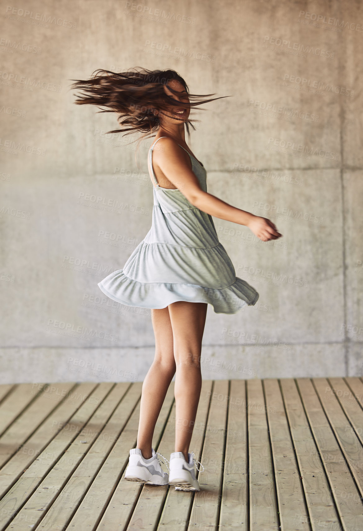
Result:
<svg viewBox="0 0 363 531"><path fill-rule="evenodd" d="M99 288L119 303L152 309L176 301L204 302L211 304L215 313L230 314L254 305L259 294L236 277L212 216L194 207L179 189L159 186L152 167L152 151L158 140L149 151L155 183L151 228L124 268L101 280ZM206 192L206 170L188 155L193 173Z"/></svg>

